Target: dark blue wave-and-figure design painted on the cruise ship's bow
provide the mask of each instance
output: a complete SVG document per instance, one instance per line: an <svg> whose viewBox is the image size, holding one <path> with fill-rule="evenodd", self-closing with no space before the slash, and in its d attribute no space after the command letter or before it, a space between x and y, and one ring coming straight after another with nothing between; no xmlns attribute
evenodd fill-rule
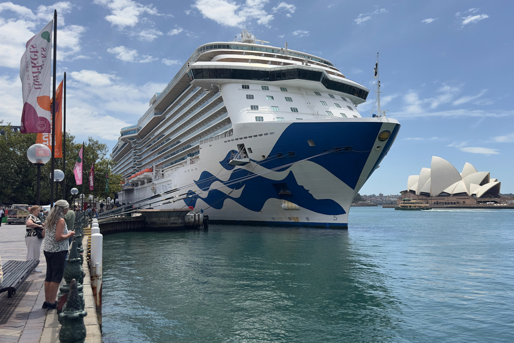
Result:
<svg viewBox="0 0 514 343"><path fill-rule="evenodd" d="M366 160L371 150L374 148L375 139L378 136L381 125L382 123L380 122L291 123L281 134L269 154L270 157L273 157L281 153L284 157L264 161L263 166L267 169L280 168L286 164L322 154L334 148L352 147L352 151L329 153L311 158L310 161L325 168L346 185L355 189ZM382 158L389 151L392 142L396 138L398 129L399 125L397 125L389 141L384 146L376 165L380 163ZM314 147L308 145L308 139L314 140ZM251 140L245 140L246 147L251 147L251 143ZM228 165L232 152L235 151L229 151L225 159L219 161L219 164L225 170L234 169L234 166ZM288 156L288 152L295 152L295 156ZM285 169L287 169L287 167L280 168L279 170ZM195 181L195 184L198 188L207 190L215 181L228 184L235 179L246 176L244 173L246 173L246 171L236 169L230 175L229 180L223 182L210 172L204 171L201 173L200 178ZM255 176L255 174L248 172L247 176ZM232 190L238 190L243 186L245 188L239 197L232 197L219 190L211 190L207 197L202 198L202 200L210 207L219 210L223 208L226 199L231 199L251 211L259 212L268 199L276 198L287 200L302 208L320 214L338 215L346 213L344 209L333 200L317 200L314 198L307 189L298 184L292 172L289 172L282 180L271 180L263 176L255 176L241 183L235 183L227 187ZM284 194L288 192L291 195ZM186 205L196 206L198 195L193 191L190 191L189 194L192 195L192 198L185 200Z"/></svg>

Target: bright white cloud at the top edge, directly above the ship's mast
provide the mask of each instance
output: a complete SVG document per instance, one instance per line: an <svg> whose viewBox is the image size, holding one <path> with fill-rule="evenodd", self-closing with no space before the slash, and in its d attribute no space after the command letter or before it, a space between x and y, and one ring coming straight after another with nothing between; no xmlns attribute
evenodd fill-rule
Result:
<svg viewBox="0 0 514 343"><path fill-rule="evenodd" d="M243 27L243 24L256 20L257 24L268 25L273 15L264 10L269 0L246 0L238 5L229 0L196 0L193 7L208 19L223 26Z"/></svg>

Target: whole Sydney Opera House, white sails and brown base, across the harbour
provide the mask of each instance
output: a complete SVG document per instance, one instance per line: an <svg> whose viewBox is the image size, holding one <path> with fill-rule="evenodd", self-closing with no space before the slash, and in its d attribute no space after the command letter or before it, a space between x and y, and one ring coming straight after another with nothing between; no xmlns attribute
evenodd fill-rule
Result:
<svg viewBox="0 0 514 343"><path fill-rule="evenodd" d="M402 198L424 200L435 207L497 203L500 182L489 172L476 171L469 163L458 172L447 160L432 156L430 168L409 176L407 190L400 193Z"/></svg>

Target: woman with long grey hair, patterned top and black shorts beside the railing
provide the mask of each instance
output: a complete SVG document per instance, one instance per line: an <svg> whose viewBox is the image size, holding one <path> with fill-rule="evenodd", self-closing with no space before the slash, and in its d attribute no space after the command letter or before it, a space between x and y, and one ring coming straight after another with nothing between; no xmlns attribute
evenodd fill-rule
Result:
<svg viewBox="0 0 514 343"><path fill-rule="evenodd" d="M43 309L57 309L57 291L64 274L64 261L69 250L68 239L75 236L74 231L66 227L64 216L68 213L69 204L59 200L53 206L43 230L45 246L43 252L46 259L45 302Z"/></svg>

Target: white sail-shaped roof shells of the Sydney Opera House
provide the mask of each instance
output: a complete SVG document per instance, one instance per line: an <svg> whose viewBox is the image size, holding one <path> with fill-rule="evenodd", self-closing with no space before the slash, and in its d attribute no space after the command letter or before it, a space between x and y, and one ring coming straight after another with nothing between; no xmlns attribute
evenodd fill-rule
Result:
<svg viewBox="0 0 514 343"><path fill-rule="evenodd" d="M422 168L419 175L411 175L407 180L407 191L416 195L457 195L467 194L477 198L484 195L498 195L500 182L491 179L489 172L479 172L466 162L462 173L447 160L432 156L430 168Z"/></svg>

